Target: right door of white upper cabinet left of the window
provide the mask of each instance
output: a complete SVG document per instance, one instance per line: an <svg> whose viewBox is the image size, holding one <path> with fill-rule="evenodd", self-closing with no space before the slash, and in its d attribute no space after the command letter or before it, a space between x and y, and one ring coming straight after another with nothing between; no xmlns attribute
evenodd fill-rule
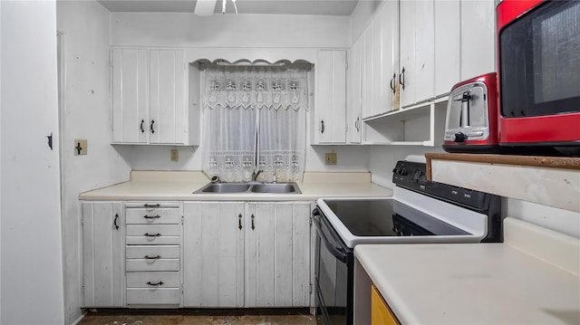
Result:
<svg viewBox="0 0 580 325"><path fill-rule="evenodd" d="M150 51L150 143L183 144L185 115L183 51Z"/></svg>

